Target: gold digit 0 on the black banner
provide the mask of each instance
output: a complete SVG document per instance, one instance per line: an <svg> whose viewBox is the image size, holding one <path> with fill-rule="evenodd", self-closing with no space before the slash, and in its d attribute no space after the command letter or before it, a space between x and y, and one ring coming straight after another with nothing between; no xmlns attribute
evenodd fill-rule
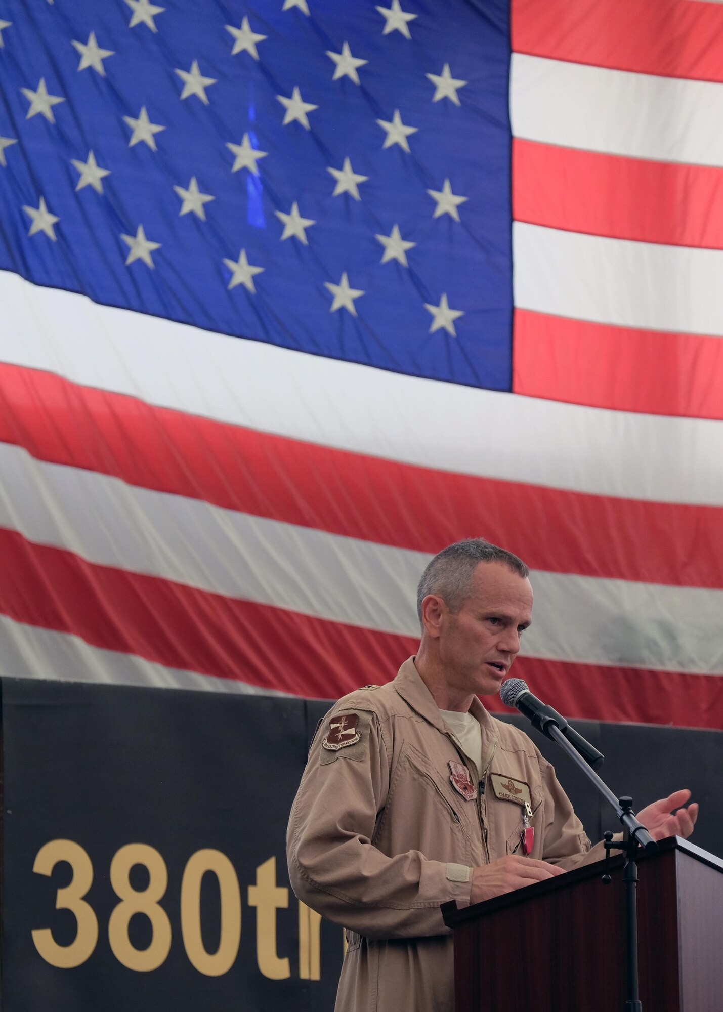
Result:
<svg viewBox="0 0 723 1012"><path fill-rule="evenodd" d="M200 882L207 871L216 875L221 894L221 938L208 952L200 933ZM181 880L181 934L186 955L207 977L227 974L241 941L241 893L234 866L220 850L196 850L188 858Z"/></svg>

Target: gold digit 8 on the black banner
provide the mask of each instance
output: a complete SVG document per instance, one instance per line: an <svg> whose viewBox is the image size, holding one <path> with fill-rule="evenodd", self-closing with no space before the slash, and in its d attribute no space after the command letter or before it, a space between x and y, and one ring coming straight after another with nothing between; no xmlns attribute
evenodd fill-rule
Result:
<svg viewBox="0 0 723 1012"><path fill-rule="evenodd" d="M130 873L134 864L148 868L148 889L138 892L131 887ZM171 925L168 914L158 901L168 886L166 862L146 843L128 843L114 854L110 862L110 884L120 903L113 908L108 921L108 941L115 958L129 969L146 973L157 969L171 947ZM134 914L145 914L153 934L147 949L131 944L128 928Z"/></svg>

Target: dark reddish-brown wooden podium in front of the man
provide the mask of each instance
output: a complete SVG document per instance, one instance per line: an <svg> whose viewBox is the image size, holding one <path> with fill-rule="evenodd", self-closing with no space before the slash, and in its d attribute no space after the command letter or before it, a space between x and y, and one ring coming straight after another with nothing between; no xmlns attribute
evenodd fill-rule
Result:
<svg viewBox="0 0 723 1012"><path fill-rule="evenodd" d="M723 1010L723 861L687 840L637 857L643 1012ZM458 909L457 1012L623 1012L623 858Z"/></svg>

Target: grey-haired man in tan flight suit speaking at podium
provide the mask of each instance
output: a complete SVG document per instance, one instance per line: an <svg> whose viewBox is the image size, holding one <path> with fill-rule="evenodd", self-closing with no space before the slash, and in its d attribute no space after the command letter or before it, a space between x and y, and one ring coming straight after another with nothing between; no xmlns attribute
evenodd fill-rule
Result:
<svg viewBox="0 0 723 1012"><path fill-rule="evenodd" d="M499 690L531 621L528 568L481 538L445 549L419 583L416 657L340 699L314 738L291 814L297 896L343 925L336 1012L454 1012L439 905L479 903L599 860L555 770L478 695ZM638 813L690 836L680 790Z"/></svg>

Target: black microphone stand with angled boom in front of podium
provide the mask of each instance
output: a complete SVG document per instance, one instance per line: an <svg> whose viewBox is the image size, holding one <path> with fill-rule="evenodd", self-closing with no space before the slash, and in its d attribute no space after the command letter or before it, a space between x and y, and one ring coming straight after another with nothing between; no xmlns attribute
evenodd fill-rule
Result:
<svg viewBox="0 0 723 1012"><path fill-rule="evenodd" d="M638 865L635 860L638 848L653 853L658 849L657 843L650 836L646 828L638 822L633 812L632 797L616 797L607 783L601 780L595 771L585 762L582 756L571 745L557 724L552 719L543 720L544 725L540 730L544 731L548 738L557 742L560 748L567 753L572 761L582 770L587 779L597 788L609 805L615 809L615 813L620 819L625 837L622 843L613 842L613 833L610 830L605 834L606 849L606 870L602 881L608 884L612 881L610 875L610 852L611 850L622 850L625 852L625 866L623 868L623 883L625 886L625 914L626 914L626 952L627 952L627 999L624 1012L642 1012L643 1006L639 998L638 991L638 907L637 907L637 882Z"/></svg>

